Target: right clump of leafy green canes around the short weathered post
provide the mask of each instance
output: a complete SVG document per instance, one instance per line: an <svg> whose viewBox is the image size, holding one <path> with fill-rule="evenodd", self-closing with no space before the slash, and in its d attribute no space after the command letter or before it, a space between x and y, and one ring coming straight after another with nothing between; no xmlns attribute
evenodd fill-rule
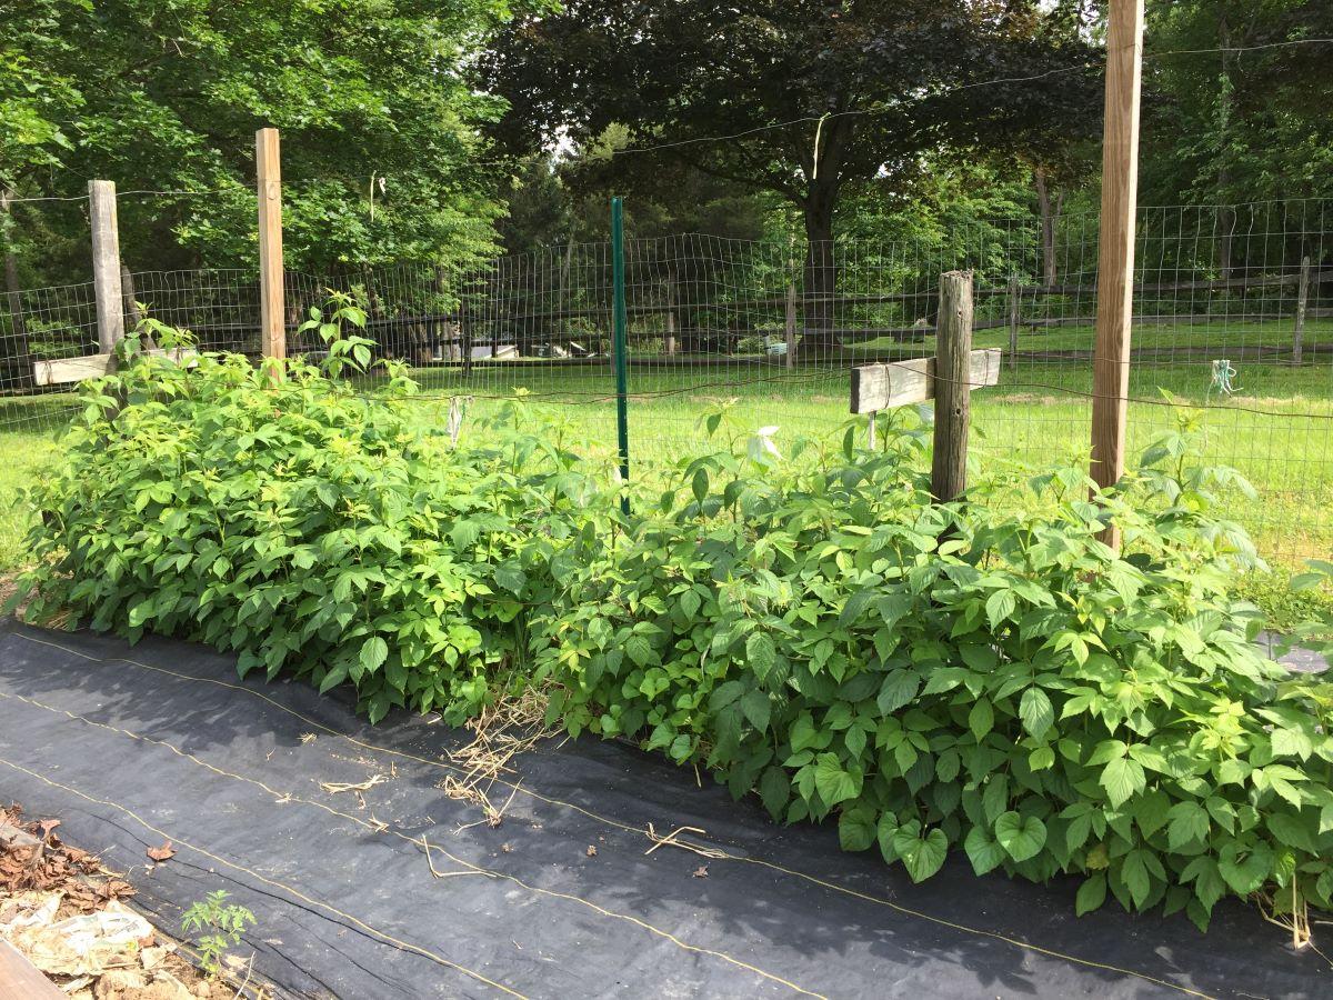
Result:
<svg viewBox="0 0 1333 1000"><path fill-rule="evenodd" d="M841 453L685 461L535 623L551 716L705 765L776 819L836 817L913 880L961 847L978 873L1086 876L1080 912L1328 907L1333 700L1254 647L1228 597L1253 552L1208 513L1245 487L1192 468L1188 439L1097 504L1070 468L933 505L901 428L874 453L849 432Z"/></svg>

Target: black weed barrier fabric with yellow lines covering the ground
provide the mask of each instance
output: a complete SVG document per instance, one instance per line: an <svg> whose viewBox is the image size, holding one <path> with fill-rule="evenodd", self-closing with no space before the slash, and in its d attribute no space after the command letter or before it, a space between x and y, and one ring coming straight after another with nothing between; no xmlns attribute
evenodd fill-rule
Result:
<svg viewBox="0 0 1333 1000"><path fill-rule="evenodd" d="M961 855L913 885L874 853L841 852L832 824L776 827L617 743L524 755L491 827L439 789L467 741L429 716L369 727L301 683L241 681L196 645L0 631L0 795L127 871L164 931L227 889L257 917L236 952L253 951L253 975L284 995L1333 991L1333 967L1240 901L1205 936L1110 907L1074 919L1077 880L978 879ZM725 857L645 853L648 824L701 828L690 841ZM176 855L151 865L164 840Z"/></svg>

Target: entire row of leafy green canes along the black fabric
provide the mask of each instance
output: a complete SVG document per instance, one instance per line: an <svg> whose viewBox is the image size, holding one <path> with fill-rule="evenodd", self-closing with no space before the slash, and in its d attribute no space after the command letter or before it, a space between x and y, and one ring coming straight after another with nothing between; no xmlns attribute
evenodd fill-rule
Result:
<svg viewBox="0 0 1333 1000"><path fill-rule="evenodd" d="M1062 468L940 505L913 411L877 451L849 427L789 455L716 413L721 444L624 517L521 400L455 445L404 415L400 369L367 388L363 321L349 299L312 311L321 367L132 337L35 492L31 613L351 683L372 720L456 721L535 684L571 733L834 820L917 881L961 851L978 873L1084 876L1078 912L1113 897L1205 927L1226 895L1333 904L1333 684L1256 647L1229 588L1261 564L1210 513L1249 487L1192 464L1188 419L1092 499Z"/></svg>

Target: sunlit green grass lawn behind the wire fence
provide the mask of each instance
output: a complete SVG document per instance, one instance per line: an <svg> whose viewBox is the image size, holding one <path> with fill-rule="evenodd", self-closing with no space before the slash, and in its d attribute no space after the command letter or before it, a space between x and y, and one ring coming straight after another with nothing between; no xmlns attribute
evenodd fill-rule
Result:
<svg viewBox="0 0 1333 1000"><path fill-rule="evenodd" d="M977 347L1006 347L1006 331L977 335ZM1208 461L1232 465L1260 491L1257 501L1228 497L1226 515L1244 524L1260 551L1278 567L1333 555L1333 321L1312 320L1310 353L1294 367L1289 320L1189 327L1136 327L1136 348L1174 356L1140 356L1130 369L1129 447L1140 451L1172 428L1174 411L1160 389L1189 403L1201 421ZM1225 344L1225 345L1220 345ZM1068 352L1088 351L1090 327L1025 332L1016 364L1006 359L1000 385L973 395L972 457L978 469L1020 460L1032 465L1086 461L1090 433L1090 363ZM1216 347L1214 347L1216 345ZM1266 348L1266 351L1264 349ZM781 447L797 435L832 437L849 420L849 364L933 353L921 344L858 345L850 361L802 364L786 369L781 359L700 359L635 356L629 372L632 475L651 479L655 467L702 447L702 415L726 403L740 427L777 425ZM1210 389L1212 359L1237 369L1236 392ZM643 361L640 364L639 361ZM607 461L616 456L615 381L611 365L555 365L540 361L479 364L471 376L452 368L415 372L423 385L420 419L444 425L448 396L469 393L469 416L499 405L493 397L529 391L536 408L564 425L565 443ZM0 567L23 561L27 513L15 503L19 488L49 461L55 431L69 412L69 396L11 400L0 404ZM864 417L861 419L864 425ZM465 425L467 427L467 425ZM464 431L467 433L467 429Z"/></svg>

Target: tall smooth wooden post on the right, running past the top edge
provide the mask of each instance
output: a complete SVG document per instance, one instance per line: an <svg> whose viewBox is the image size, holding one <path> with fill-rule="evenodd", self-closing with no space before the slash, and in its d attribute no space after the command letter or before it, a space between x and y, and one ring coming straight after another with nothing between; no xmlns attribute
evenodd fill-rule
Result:
<svg viewBox="0 0 1333 1000"><path fill-rule="evenodd" d="M1144 0L1110 0L1106 32L1106 117L1101 153L1101 240L1097 340L1093 349L1092 479L1117 483L1125 471L1129 336L1134 307L1134 208L1138 200L1138 100ZM1117 545L1114 528L1101 535Z"/></svg>

